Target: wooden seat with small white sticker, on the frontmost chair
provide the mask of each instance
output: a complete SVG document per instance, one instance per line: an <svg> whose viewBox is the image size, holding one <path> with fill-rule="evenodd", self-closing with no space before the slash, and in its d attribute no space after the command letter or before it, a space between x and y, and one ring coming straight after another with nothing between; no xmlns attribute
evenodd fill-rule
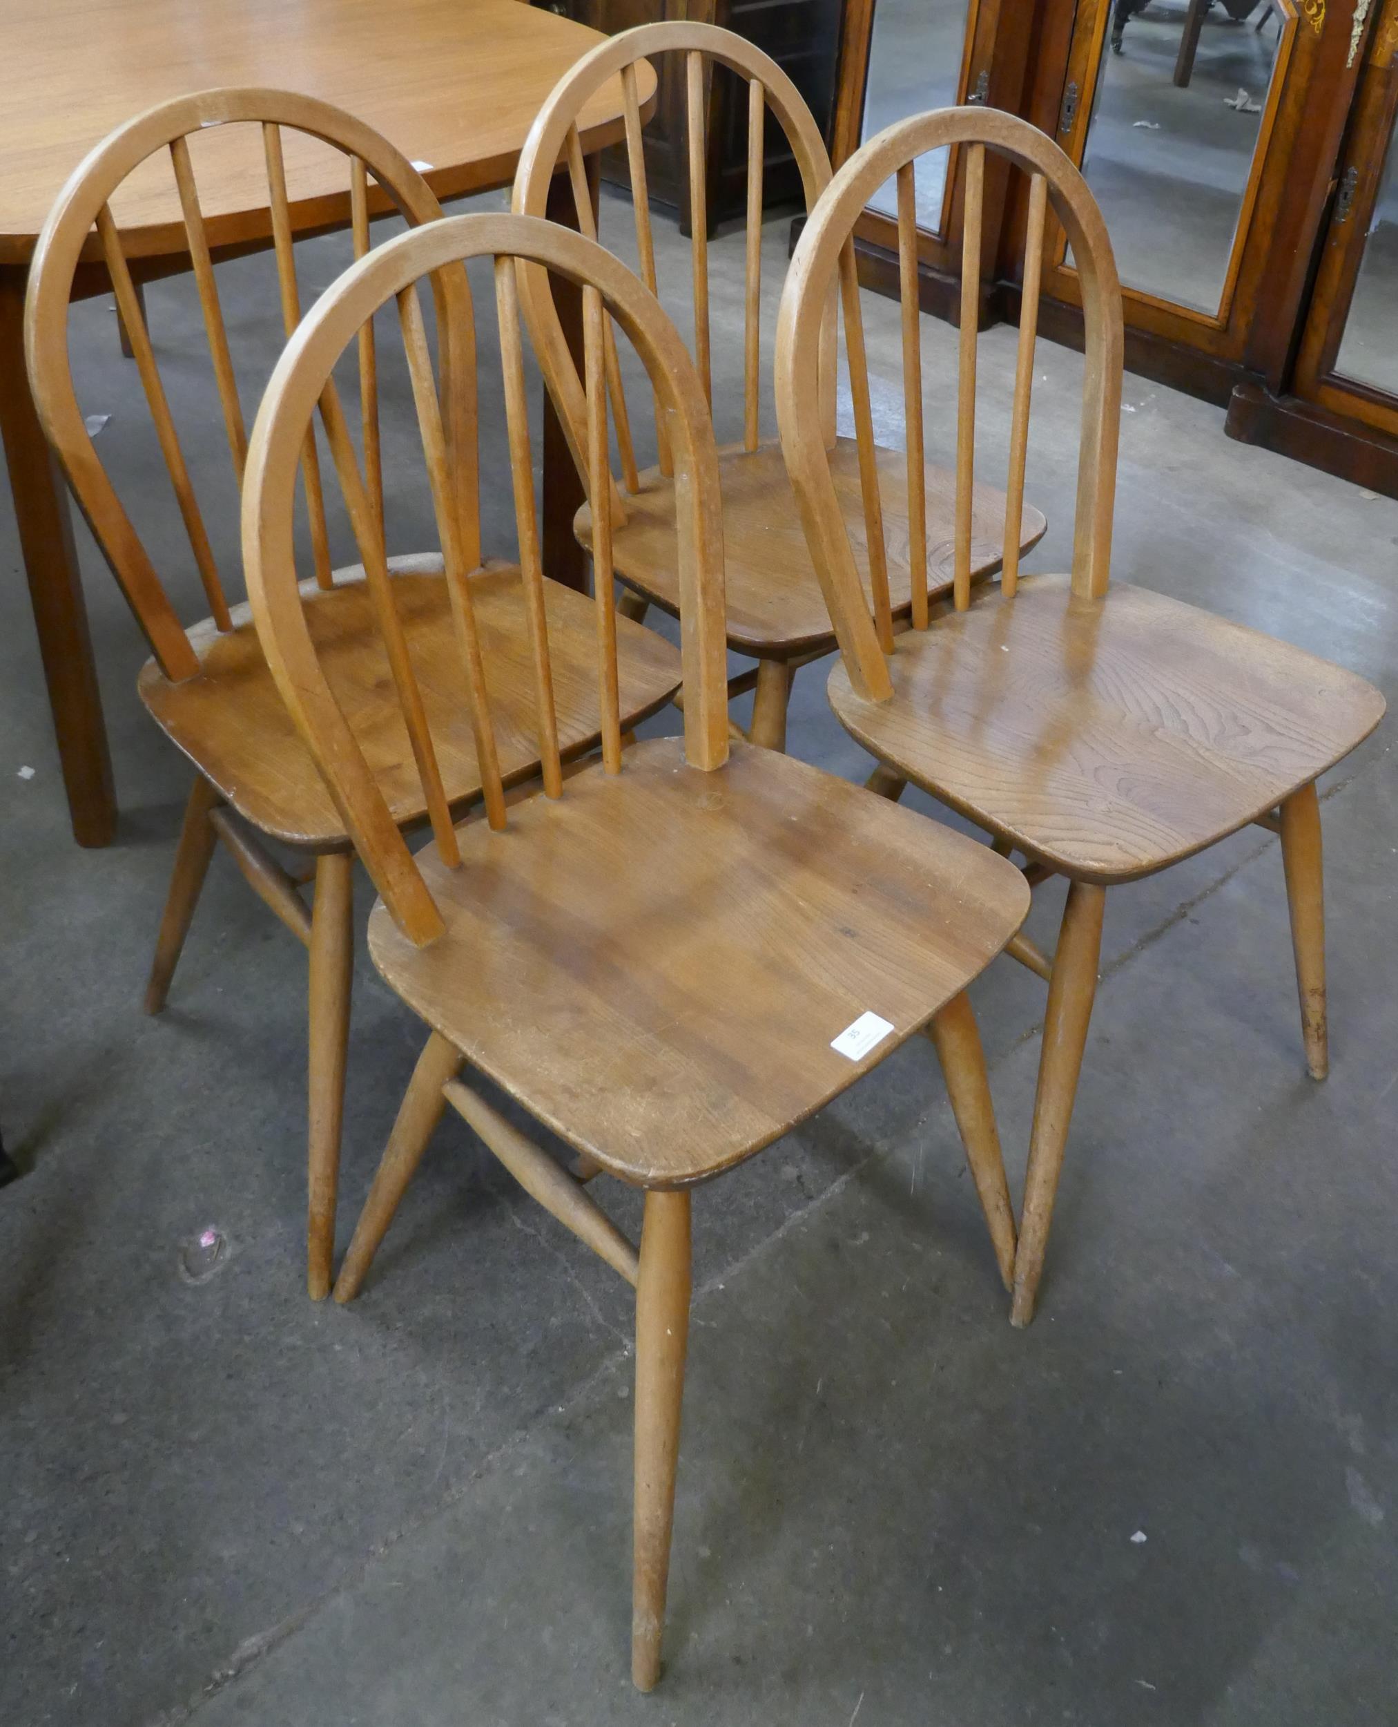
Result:
<svg viewBox="0 0 1398 1727"><path fill-rule="evenodd" d="M751 744L716 772L680 739L589 767L509 829L418 864L447 933L380 903L392 988L613 1174L683 1186L759 1150L915 1033L1029 910L986 846ZM861 1014L863 1059L830 1048Z"/></svg>

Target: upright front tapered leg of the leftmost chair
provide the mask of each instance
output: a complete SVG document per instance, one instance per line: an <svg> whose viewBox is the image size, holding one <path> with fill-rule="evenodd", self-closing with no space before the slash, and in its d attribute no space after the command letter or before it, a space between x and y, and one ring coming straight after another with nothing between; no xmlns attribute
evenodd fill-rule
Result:
<svg viewBox="0 0 1398 1727"><path fill-rule="evenodd" d="M330 1294L335 1262L335 1193L340 1185L352 972L354 857L349 851L335 851L316 858L316 900L311 907L311 1133L305 1242L305 1287L311 1300L324 1300Z"/></svg>

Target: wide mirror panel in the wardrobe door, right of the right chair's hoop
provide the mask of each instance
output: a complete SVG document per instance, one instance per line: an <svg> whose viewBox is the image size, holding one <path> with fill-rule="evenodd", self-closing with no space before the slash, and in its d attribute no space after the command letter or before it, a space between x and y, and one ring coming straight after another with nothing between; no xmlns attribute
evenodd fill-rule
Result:
<svg viewBox="0 0 1398 1727"><path fill-rule="evenodd" d="M1284 71L1291 0L1105 0L1082 173L1122 283L1219 316Z"/></svg>

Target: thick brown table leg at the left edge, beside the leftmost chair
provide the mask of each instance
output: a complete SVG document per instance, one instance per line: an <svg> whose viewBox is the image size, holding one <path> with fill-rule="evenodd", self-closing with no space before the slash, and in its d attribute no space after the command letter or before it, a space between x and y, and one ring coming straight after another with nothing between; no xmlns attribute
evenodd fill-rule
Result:
<svg viewBox="0 0 1398 1727"><path fill-rule="evenodd" d="M19 551L40 639L48 706L59 739L72 838L105 846L116 793L102 698L78 575L67 490L35 413L24 370L24 271L0 269L0 435L10 468Z"/></svg>

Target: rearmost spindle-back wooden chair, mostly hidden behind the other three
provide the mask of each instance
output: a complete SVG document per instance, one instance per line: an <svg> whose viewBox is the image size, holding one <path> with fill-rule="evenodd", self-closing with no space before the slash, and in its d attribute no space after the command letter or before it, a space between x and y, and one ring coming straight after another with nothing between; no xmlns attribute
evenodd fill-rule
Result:
<svg viewBox="0 0 1398 1727"><path fill-rule="evenodd" d="M685 55L689 199L692 223L694 357L711 399L709 278L704 162L708 124L708 81L713 64L747 79L747 254L744 304L744 397L742 442L720 449L723 490L723 554L728 577L728 646L756 658L756 668L739 674L730 696L756 689L753 698L753 743L785 748L787 699L797 667L834 651L830 617L820 594L811 556L801 534L790 484L775 439L759 439L761 406L761 228L763 150L768 111L785 135L801 169L806 204L813 206L830 180L830 161L809 109L787 74L742 36L711 24L642 24L621 31L594 48L559 81L540 109L520 157L513 207L542 216L556 164L566 161L578 211L578 226L595 237L592 202L578 143L578 117L589 100L621 74L627 117L627 152L635 207L635 242L640 273L656 292L656 256L645 187L645 155L640 138L635 66L659 54ZM525 311L545 378L554 392L559 418L570 432L573 454L582 461L583 401L576 366L563 340L554 304L538 271L521 276ZM951 475L932 463L910 473L899 451L884 449L873 437L868 371L865 364L860 295L853 244L841 264L846 313L846 352L856 437L835 437L835 319L830 319L820 351L820 427L830 447L830 465L846 522L854 542L861 579L889 596L884 608L896 622L925 618L929 598L941 599L951 585ZM659 465L637 473L621 375L609 361L609 387L616 416L625 496L613 487L613 560L616 573L633 591L630 615L644 615L654 603L671 615L678 606L675 577L673 475L663 428L656 427ZM922 539L908 537L908 487L911 515L927 523ZM882 522L872 511L882 506ZM973 501L975 575L999 566L1004 539L1004 497L991 487ZM873 523L865 528L865 518ZM1037 509L1020 504L1015 541L1032 546L1044 532ZM592 544L592 515L578 513L576 532ZM887 549L885 549L887 547ZM891 625L892 627L892 625Z"/></svg>

